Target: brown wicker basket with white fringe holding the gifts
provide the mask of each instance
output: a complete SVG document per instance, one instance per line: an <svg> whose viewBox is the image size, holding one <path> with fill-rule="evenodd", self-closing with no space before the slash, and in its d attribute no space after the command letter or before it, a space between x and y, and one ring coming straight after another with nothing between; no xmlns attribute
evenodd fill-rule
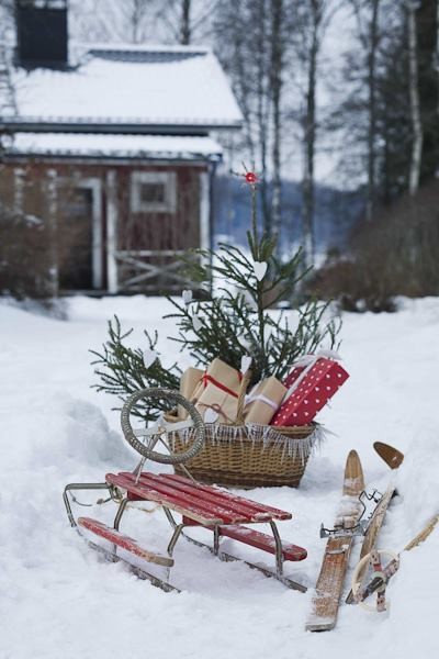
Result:
<svg viewBox="0 0 439 659"><path fill-rule="evenodd" d="M322 427L268 426L243 420L245 392L250 373L243 378L236 424L206 424L201 451L184 467L196 480L235 488L296 488L314 446L322 438ZM180 453L193 440L193 429L169 434L171 449ZM175 466L184 476L184 468Z"/></svg>

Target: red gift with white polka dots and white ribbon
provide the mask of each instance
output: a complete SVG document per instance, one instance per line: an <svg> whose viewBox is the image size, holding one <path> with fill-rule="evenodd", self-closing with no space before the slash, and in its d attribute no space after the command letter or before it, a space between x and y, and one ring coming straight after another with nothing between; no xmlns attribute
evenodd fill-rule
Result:
<svg viewBox="0 0 439 659"><path fill-rule="evenodd" d="M300 426L311 423L349 378L339 359L333 350L320 350L295 361L283 382L289 390L270 425Z"/></svg>

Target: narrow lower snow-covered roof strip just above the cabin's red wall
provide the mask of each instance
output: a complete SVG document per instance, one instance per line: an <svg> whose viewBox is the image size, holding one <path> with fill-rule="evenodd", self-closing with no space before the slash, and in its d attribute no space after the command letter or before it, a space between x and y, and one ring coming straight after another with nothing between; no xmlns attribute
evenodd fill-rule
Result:
<svg viewBox="0 0 439 659"><path fill-rule="evenodd" d="M95 133L15 133L10 156L78 156L97 158L219 158L221 145L212 137L117 135Z"/></svg>

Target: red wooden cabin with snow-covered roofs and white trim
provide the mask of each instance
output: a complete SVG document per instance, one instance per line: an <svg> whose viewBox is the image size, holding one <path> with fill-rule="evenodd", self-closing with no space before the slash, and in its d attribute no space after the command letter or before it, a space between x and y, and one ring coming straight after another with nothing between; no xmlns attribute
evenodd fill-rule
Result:
<svg viewBox="0 0 439 659"><path fill-rule="evenodd" d="M117 45L82 51L76 63L57 48L43 62L37 42L24 49L29 30L18 20L19 62L0 119L2 189L53 227L58 289L180 291L189 282L179 255L211 245L222 157L212 133L241 122L216 57Z"/></svg>

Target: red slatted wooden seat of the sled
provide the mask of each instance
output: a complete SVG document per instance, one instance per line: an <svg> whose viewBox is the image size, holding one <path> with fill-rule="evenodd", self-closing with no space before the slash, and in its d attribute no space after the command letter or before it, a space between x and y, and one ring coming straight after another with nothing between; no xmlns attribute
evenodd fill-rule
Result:
<svg viewBox="0 0 439 659"><path fill-rule="evenodd" d="M131 500L155 501L204 526L291 520L291 513L259 504L184 477L143 472L108 473L108 483L125 489Z"/></svg>

